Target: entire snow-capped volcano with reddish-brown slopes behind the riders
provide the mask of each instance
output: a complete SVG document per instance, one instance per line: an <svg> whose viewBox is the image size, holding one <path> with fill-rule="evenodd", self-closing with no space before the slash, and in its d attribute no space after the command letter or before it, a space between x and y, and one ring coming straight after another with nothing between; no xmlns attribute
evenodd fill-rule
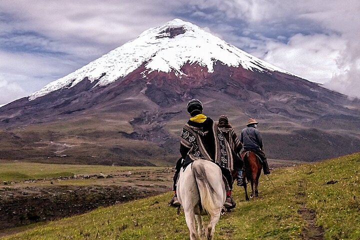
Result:
<svg viewBox="0 0 360 240"><path fill-rule="evenodd" d="M171 162L191 98L214 120L227 114L237 133L247 118L258 119L270 158L313 161L360 151L360 101L174 19L2 106L7 148L0 157L14 158L9 152L18 149L16 159L36 161Z"/></svg>

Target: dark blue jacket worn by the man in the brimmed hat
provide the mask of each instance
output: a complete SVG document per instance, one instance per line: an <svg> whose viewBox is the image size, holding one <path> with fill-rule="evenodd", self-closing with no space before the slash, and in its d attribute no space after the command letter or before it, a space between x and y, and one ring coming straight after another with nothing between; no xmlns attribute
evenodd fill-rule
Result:
<svg viewBox="0 0 360 240"><path fill-rule="evenodd" d="M262 150L262 137L253 125L242 129L240 141L242 142L244 150Z"/></svg>

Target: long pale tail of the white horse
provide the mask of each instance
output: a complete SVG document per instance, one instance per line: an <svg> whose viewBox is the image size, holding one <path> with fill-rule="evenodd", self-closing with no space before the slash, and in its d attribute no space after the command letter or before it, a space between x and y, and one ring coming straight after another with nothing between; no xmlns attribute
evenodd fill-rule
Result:
<svg viewBox="0 0 360 240"><path fill-rule="evenodd" d="M194 161L191 164L191 168L199 190L202 209L210 215L213 215L218 207L216 207L214 203L213 195L215 190L206 176L205 167L201 161Z"/></svg>

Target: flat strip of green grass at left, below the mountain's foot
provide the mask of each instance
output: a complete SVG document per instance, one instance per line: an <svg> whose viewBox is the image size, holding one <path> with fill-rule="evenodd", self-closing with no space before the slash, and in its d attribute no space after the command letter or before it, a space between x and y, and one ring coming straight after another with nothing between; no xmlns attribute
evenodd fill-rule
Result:
<svg viewBox="0 0 360 240"><path fill-rule="evenodd" d="M151 166L103 166L45 164L21 161L0 162L0 181L21 181L46 177L73 176L74 174L98 174L100 172L153 169Z"/></svg>

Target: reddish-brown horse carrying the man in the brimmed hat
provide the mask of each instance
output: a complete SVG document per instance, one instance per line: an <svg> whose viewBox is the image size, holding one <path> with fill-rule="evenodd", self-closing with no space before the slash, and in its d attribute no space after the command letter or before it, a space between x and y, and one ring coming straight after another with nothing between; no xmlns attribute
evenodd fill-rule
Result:
<svg viewBox="0 0 360 240"><path fill-rule="evenodd" d="M253 196L258 196L257 186L262 168L260 159L253 151L250 150L243 151L241 153L241 157L245 165L246 179L250 181L251 184L250 198L252 198ZM246 184L244 185L244 189L245 189L245 199L248 200Z"/></svg>

